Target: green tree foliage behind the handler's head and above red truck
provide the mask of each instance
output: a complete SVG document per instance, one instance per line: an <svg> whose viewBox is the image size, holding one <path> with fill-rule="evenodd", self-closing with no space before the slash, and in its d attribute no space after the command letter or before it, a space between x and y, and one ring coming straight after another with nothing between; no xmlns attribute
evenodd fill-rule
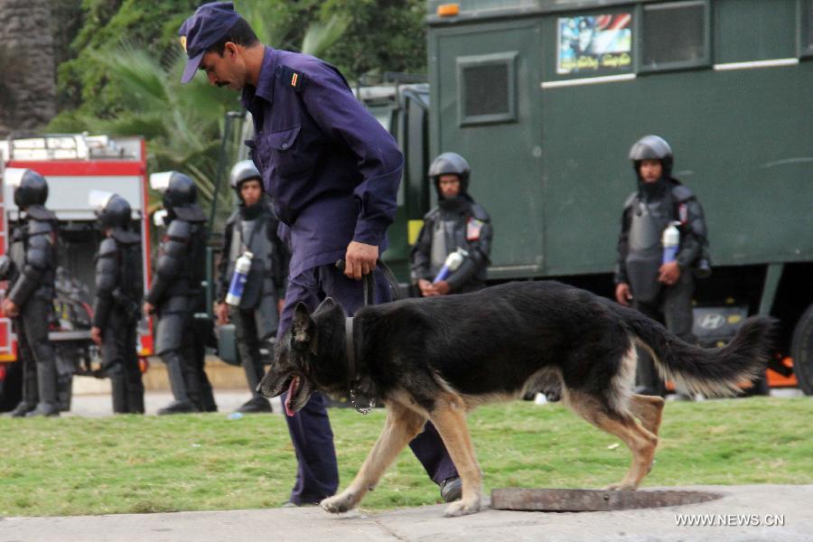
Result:
<svg viewBox="0 0 813 542"><path fill-rule="evenodd" d="M65 0L60 0L64 3ZM144 135L151 171L191 173L204 208L215 193L220 222L230 209L223 173L241 144L223 143L238 95L202 76L180 78L186 56L177 31L199 0L83 0L72 58L58 70L55 132ZM350 80L373 71L423 71L424 3L418 0L238 0L261 42L337 65ZM76 14L74 9L72 14ZM63 40L64 41L64 40ZM217 225L217 224L216 224Z"/></svg>

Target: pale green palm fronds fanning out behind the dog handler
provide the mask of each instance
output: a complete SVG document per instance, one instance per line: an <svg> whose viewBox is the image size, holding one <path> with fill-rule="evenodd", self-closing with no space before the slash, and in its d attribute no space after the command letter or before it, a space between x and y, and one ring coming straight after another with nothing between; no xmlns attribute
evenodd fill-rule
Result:
<svg viewBox="0 0 813 542"><path fill-rule="evenodd" d="M259 12L256 6L249 7L245 16L260 41L284 42L283 29L278 24L266 23L275 18L260 17ZM313 23L304 34L302 51L321 54L339 39L348 23L337 16L327 23ZM179 74L186 56L180 48L166 66L145 49L127 43L117 51L97 52L95 58L106 67L108 78L121 85L124 108L110 119L79 117L81 124L109 135L144 135L151 170L191 173L204 208L211 208L214 195L218 194L216 207L220 212L212 224L218 228L231 209L231 191L218 190L218 177L224 171L220 161L225 159L226 164L232 164L242 145L239 126L231 130L229 141L224 141L226 114L242 111L238 95L213 87L203 78L182 85ZM222 157L221 146L225 151Z"/></svg>

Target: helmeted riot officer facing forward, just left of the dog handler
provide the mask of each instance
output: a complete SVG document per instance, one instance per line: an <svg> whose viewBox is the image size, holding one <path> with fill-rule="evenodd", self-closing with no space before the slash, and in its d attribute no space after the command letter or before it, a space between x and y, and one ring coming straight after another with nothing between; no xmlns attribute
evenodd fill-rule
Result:
<svg viewBox="0 0 813 542"><path fill-rule="evenodd" d="M276 220L271 202L266 197L257 166L250 160L234 164L230 182L237 194L239 208L226 222L223 257L218 268L218 322L223 324L229 318L229 305L226 304L229 282L238 257L248 251L252 255L251 270L239 304L231 307L231 318L235 324L240 361L253 397L240 406L238 412L271 412L268 399L257 393L257 385L265 373L260 348L263 343L269 350L273 348L279 325L277 292L285 286L286 249L276 235L279 220Z"/></svg>

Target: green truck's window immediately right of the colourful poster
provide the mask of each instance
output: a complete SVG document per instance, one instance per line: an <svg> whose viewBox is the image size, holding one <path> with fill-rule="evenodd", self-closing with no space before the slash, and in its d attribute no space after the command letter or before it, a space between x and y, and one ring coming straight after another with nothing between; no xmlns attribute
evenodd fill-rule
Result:
<svg viewBox="0 0 813 542"><path fill-rule="evenodd" d="M641 70L708 63L706 0L644 5L641 31Z"/></svg>

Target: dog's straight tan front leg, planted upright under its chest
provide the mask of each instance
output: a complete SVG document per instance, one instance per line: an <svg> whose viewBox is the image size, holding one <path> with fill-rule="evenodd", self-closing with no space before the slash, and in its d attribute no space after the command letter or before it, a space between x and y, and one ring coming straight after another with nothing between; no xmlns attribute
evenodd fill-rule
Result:
<svg viewBox="0 0 813 542"><path fill-rule="evenodd" d="M480 511L481 506L482 473L474 456L465 416L465 404L457 396L438 399L429 416L463 481L463 497L446 508L444 516L447 518L473 514Z"/></svg>

